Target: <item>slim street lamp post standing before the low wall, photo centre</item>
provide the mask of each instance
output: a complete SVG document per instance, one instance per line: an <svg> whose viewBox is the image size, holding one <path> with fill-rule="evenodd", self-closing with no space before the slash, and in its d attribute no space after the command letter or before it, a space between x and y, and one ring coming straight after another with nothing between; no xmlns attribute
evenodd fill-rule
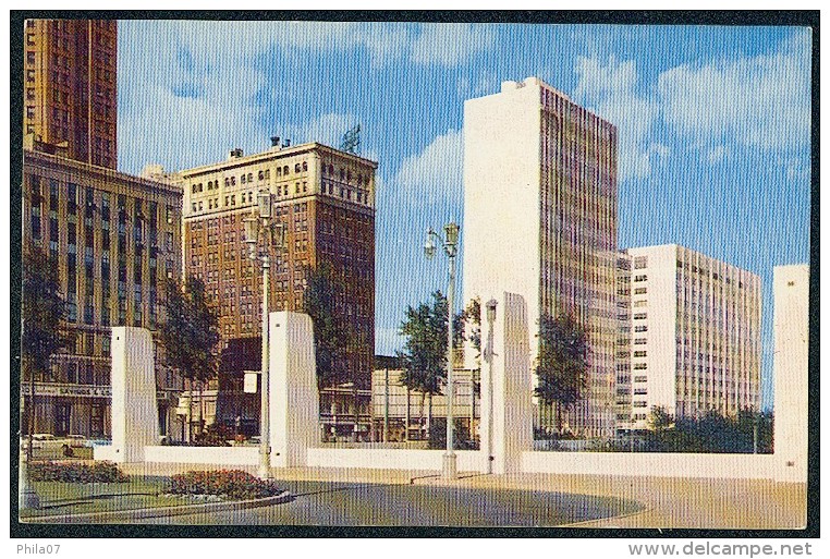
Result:
<svg viewBox="0 0 830 559"><path fill-rule="evenodd" d="M427 242L424 244L424 253L431 258L436 253L434 239L443 243L443 251L450 260L450 284L447 288L448 328L447 328L447 453L443 455L442 477L444 479L457 478L455 448L453 443L454 423L452 415L453 394L455 385L452 366L452 308L455 295L455 256L459 254L459 226L451 221L443 227L444 238L432 229L427 230Z"/></svg>

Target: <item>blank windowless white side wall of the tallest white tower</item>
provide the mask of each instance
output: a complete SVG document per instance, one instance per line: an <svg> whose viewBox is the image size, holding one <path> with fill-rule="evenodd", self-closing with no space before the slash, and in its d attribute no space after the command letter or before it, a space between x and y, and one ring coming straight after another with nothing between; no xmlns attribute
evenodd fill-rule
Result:
<svg viewBox="0 0 830 559"><path fill-rule="evenodd" d="M539 306L540 90L533 78L505 82L464 102L464 301L518 293L530 324Z"/></svg>

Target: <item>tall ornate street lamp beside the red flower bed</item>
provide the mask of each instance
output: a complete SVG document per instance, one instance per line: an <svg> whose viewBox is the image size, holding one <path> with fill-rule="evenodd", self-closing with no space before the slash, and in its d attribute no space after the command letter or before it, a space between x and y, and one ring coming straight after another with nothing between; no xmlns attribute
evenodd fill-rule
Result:
<svg viewBox="0 0 830 559"><path fill-rule="evenodd" d="M269 271L271 267L271 248L282 251L285 241L285 229L282 222L274 222L273 197L270 192L257 195L257 207L251 216L244 219L245 243L248 245L248 258L259 260L263 266L263 365L259 375L260 411L259 411L259 477L271 477L271 436L270 436L270 393L269 393L269 323L268 292L270 291ZM261 251L257 250L260 236Z"/></svg>

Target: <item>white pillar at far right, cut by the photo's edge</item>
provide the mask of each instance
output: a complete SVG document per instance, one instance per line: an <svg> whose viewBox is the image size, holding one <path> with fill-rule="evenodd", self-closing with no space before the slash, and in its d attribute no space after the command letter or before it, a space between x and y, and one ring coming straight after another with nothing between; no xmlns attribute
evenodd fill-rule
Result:
<svg viewBox="0 0 830 559"><path fill-rule="evenodd" d="M777 266L772 293L776 462L781 478L806 482L809 267Z"/></svg>

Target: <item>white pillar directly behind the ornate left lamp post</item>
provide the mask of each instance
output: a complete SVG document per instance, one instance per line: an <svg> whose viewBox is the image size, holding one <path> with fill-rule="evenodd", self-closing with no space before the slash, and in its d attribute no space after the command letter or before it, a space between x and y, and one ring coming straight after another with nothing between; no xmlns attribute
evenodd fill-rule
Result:
<svg viewBox="0 0 830 559"><path fill-rule="evenodd" d="M303 466L320 436L312 318L289 312L269 318L271 464Z"/></svg>

